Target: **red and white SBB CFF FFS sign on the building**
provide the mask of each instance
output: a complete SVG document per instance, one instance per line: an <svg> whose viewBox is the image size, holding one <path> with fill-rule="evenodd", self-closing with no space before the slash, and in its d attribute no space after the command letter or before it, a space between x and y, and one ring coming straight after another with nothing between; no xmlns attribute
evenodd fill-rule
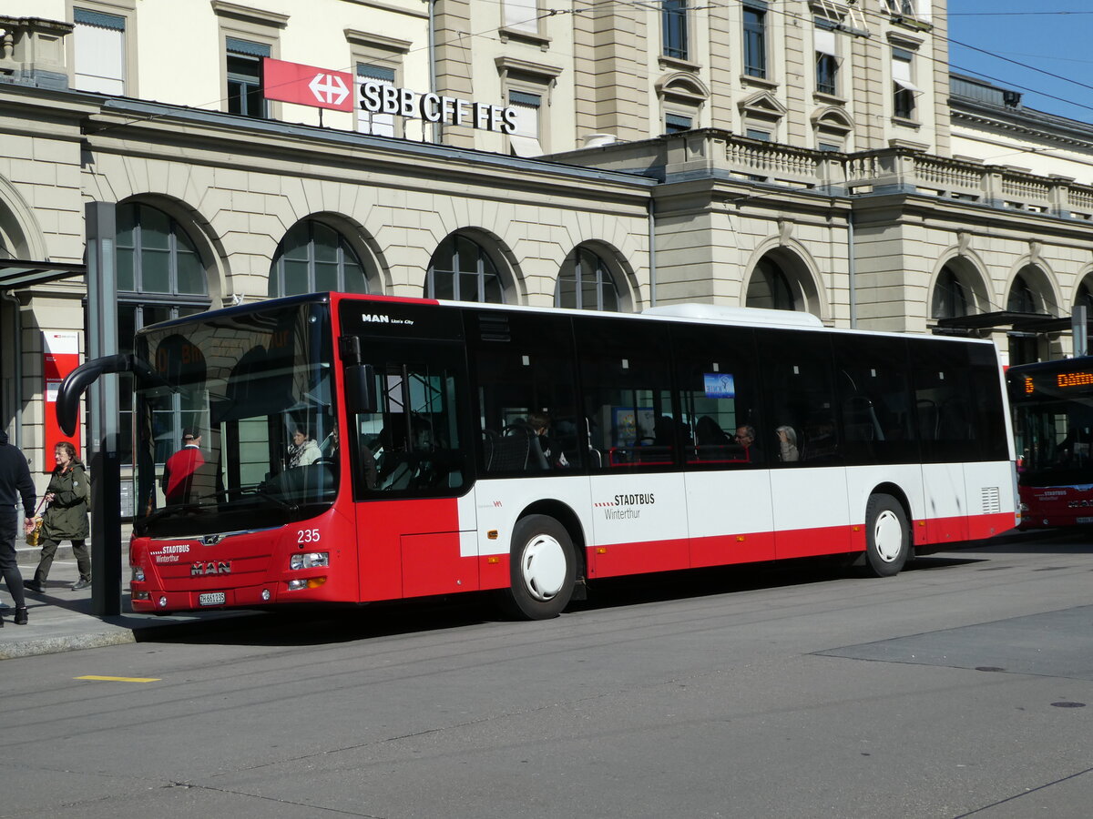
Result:
<svg viewBox="0 0 1093 819"><path fill-rule="evenodd" d="M368 114L399 115L506 134L516 133L517 129L516 109L510 106L472 103L433 93L419 94L374 80L354 81L353 75L345 71L329 71L269 57L262 60L262 94L267 99L283 103L340 111L351 111L355 106Z"/></svg>

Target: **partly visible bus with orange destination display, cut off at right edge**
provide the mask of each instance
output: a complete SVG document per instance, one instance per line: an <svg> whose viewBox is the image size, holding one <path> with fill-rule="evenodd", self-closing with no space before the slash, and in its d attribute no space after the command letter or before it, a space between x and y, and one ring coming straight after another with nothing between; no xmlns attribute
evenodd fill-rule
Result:
<svg viewBox="0 0 1093 819"><path fill-rule="evenodd" d="M1093 358L1007 371L1022 529L1093 524Z"/></svg>

